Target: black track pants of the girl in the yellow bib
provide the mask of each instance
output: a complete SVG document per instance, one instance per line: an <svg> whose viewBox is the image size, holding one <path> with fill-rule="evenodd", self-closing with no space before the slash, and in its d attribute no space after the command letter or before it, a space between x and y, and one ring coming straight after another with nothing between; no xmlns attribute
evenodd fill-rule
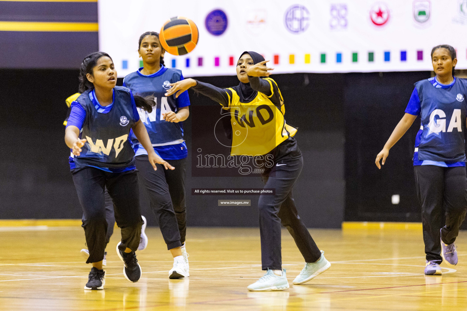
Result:
<svg viewBox="0 0 467 311"><path fill-rule="evenodd" d="M302 167L302 157L285 158L273 167L269 176L262 177L265 188L276 189L276 195L261 195L258 201L262 270L282 269L281 224L289 230L305 262L313 263L321 256L318 246L297 214L292 197L292 187Z"/></svg>

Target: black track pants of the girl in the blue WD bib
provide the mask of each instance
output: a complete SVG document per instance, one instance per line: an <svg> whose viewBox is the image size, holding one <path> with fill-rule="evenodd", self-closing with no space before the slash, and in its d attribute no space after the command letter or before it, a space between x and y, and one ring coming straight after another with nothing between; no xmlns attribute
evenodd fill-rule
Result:
<svg viewBox="0 0 467 311"><path fill-rule="evenodd" d="M143 222L136 170L109 173L88 166L74 169L71 174L83 207L82 227L85 229L89 249L86 263L96 263L104 259L107 234L105 188L113 200L115 221L121 228L119 248L137 250Z"/></svg>

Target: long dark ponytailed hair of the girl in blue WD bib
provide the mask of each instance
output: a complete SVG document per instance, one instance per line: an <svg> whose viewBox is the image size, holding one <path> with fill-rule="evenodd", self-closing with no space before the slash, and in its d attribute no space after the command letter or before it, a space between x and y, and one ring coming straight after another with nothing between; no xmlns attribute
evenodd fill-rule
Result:
<svg viewBox="0 0 467 311"><path fill-rule="evenodd" d="M94 85L89 82L86 77L86 74L92 74L92 69L96 66L97 61L99 58L107 56L112 60L112 57L105 52L94 52L85 57L83 62L81 63L81 67L79 69L79 92L84 93L85 90L92 90ZM134 95L134 103L136 107L139 107L149 113L152 112L153 107L156 106L156 102L154 101L154 96L147 96L142 97L139 95Z"/></svg>

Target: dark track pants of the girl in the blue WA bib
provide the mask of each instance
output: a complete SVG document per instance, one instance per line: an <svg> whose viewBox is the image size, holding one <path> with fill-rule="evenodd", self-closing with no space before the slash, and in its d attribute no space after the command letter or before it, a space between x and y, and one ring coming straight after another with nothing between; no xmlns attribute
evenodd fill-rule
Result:
<svg viewBox="0 0 467 311"><path fill-rule="evenodd" d="M147 155L139 155L135 159L139 180L146 188L151 209L157 217L167 249L181 246L186 235L186 158L166 160L175 167L173 171L166 170L161 164L156 164L155 171Z"/></svg>

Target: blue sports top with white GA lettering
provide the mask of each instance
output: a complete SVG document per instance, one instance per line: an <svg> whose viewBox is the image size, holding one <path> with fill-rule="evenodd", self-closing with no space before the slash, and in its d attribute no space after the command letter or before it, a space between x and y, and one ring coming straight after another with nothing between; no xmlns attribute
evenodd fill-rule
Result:
<svg viewBox="0 0 467 311"><path fill-rule="evenodd" d="M406 113L421 117L413 165L465 166L467 80L454 77L441 84L436 77L415 83Z"/></svg>

